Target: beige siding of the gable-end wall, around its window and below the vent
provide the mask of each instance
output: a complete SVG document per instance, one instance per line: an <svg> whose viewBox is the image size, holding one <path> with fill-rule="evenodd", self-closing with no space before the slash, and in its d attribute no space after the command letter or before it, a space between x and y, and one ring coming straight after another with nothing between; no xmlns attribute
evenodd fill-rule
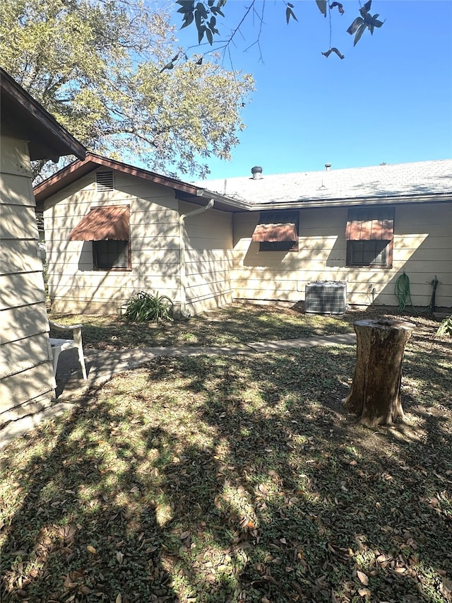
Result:
<svg viewBox="0 0 452 603"><path fill-rule="evenodd" d="M101 170L102 171L102 170ZM131 270L93 269L93 244L69 234L92 207L130 206ZM131 295L179 295L179 213L172 189L114 172L114 190L97 192L95 172L48 199L49 297L56 312L114 314Z"/></svg>

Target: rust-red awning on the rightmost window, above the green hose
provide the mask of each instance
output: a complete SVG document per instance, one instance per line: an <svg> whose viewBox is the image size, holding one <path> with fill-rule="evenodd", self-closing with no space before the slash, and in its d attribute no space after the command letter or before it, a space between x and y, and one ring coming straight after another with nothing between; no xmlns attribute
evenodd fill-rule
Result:
<svg viewBox="0 0 452 603"><path fill-rule="evenodd" d="M345 238L348 241L391 241L394 209L349 209Z"/></svg>

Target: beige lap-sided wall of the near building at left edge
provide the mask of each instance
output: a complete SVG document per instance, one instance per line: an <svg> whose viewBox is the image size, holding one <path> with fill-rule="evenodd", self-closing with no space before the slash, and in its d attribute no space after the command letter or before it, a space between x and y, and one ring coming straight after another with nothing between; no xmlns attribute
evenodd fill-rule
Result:
<svg viewBox="0 0 452 603"><path fill-rule="evenodd" d="M25 141L1 137L0 423L54 397L42 261Z"/></svg>

